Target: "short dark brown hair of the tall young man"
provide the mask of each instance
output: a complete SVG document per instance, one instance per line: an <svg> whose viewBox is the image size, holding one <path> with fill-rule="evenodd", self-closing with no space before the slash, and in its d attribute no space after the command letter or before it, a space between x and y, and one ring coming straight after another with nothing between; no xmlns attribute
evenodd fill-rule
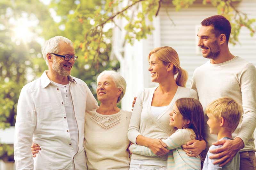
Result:
<svg viewBox="0 0 256 170"><path fill-rule="evenodd" d="M201 22L202 26L213 26L215 37L218 37L220 34L226 35L226 40L228 43L230 33L231 33L231 25L227 18L221 15L213 15L211 17L205 18Z"/></svg>

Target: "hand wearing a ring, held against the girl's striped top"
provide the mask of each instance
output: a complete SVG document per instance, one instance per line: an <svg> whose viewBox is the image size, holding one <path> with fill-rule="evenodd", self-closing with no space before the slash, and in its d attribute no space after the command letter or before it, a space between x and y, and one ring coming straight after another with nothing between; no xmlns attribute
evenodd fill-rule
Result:
<svg viewBox="0 0 256 170"><path fill-rule="evenodd" d="M186 145L182 145L183 151L190 157L199 155L206 148L206 142L204 140L191 140Z"/></svg>

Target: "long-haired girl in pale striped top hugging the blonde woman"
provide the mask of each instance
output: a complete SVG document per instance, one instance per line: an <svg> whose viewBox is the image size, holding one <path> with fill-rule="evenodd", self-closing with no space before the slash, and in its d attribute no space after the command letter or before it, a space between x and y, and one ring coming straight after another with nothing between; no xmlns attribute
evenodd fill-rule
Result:
<svg viewBox="0 0 256 170"><path fill-rule="evenodd" d="M177 130L167 139L163 140L168 153L169 169L201 169L200 157L189 157L181 146L188 141L203 138L204 111L201 103L193 98L180 98L175 101L170 115L170 126ZM145 156L156 156L149 148L132 144L130 152Z"/></svg>

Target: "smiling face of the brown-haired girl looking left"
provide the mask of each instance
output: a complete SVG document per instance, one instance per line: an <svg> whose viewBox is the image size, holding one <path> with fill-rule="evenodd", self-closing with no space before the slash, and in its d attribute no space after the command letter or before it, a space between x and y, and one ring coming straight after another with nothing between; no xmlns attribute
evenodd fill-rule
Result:
<svg viewBox="0 0 256 170"><path fill-rule="evenodd" d="M170 126L174 126L178 129L182 129L185 125L189 123L187 119L184 119L184 117L181 115L178 107L176 104L172 107L172 112L170 115Z"/></svg>

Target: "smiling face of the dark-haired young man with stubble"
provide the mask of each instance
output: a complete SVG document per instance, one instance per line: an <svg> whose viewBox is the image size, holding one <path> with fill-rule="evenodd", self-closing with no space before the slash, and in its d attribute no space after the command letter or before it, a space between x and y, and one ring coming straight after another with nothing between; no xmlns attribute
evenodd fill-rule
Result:
<svg viewBox="0 0 256 170"><path fill-rule="evenodd" d="M213 33L213 26L201 26L197 33L198 44L202 49L204 58L216 59L220 55L220 44L218 37Z"/></svg>

